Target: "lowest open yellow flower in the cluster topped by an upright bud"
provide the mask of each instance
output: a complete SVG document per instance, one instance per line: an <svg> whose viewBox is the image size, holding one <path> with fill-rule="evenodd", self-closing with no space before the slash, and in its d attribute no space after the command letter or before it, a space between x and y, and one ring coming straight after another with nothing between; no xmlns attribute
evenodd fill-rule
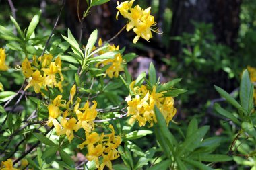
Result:
<svg viewBox="0 0 256 170"><path fill-rule="evenodd" d="M69 142L74 138L73 130L77 132L79 130L79 125L76 124L77 120L75 118L71 118L70 120L66 120L65 118L61 119L61 126L63 127L61 130L57 131L57 135L66 134Z"/></svg>

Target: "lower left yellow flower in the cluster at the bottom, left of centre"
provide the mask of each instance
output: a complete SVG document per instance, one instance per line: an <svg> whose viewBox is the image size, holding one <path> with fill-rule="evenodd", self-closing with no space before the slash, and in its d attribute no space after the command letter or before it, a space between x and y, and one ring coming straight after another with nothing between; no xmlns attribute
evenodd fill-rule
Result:
<svg viewBox="0 0 256 170"><path fill-rule="evenodd" d="M95 161L96 167L100 167L98 157L103 154L105 147L102 144L98 144L96 147L93 144L88 144L87 149L88 154L86 154L86 158L89 161Z"/></svg>

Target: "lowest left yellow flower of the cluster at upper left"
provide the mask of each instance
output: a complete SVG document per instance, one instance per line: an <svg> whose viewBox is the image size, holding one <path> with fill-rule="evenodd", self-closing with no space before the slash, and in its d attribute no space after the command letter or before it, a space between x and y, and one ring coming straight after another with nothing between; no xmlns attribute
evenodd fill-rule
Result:
<svg viewBox="0 0 256 170"><path fill-rule="evenodd" d="M44 77L42 77L40 71L36 70L32 74L32 79L29 81L28 85L25 87L24 90L26 91L30 86L33 86L34 91L36 93L39 93L43 83L44 83Z"/></svg>

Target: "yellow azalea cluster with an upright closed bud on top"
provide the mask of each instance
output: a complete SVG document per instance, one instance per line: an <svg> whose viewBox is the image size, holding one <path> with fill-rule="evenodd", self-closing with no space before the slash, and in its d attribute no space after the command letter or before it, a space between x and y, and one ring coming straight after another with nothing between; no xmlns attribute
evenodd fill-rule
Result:
<svg viewBox="0 0 256 170"><path fill-rule="evenodd" d="M54 126L57 135L66 134L69 142L74 138L73 131L77 132L77 130L83 128L87 133L92 132L94 130L94 120L97 116L96 101L92 101L94 105L91 107L89 107L89 102L87 101L83 107L79 108L81 99L77 97L76 101L73 102L75 92L76 85L73 85L68 102L62 99L62 95L58 95L48 105L49 118L47 125ZM74 106L73 103L75 104ZM61 120L61 124L59 124L58 118Z"/></svg>

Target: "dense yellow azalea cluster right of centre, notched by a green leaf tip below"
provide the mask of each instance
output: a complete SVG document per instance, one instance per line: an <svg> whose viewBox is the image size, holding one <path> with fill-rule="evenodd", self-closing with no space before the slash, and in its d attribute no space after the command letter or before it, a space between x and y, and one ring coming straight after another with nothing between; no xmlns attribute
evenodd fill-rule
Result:
<svg viewBox="0 0 256 170"><path fill-rule="evenodd" d="M134 85L135 81L130 85L134 96L129 95L125 99L128 105L127 116L131 116L129 124L137 120L139 126L145 126L146 122L150 124L150 127L153 126L154 122L157 122L154 105L159 108L166 120L166 124L169 124L176 114L174 99L172 97L164 97L163 93L156 93L156 86L150 91L146 85L141 85L141 87L134 87Z"/></svg>

